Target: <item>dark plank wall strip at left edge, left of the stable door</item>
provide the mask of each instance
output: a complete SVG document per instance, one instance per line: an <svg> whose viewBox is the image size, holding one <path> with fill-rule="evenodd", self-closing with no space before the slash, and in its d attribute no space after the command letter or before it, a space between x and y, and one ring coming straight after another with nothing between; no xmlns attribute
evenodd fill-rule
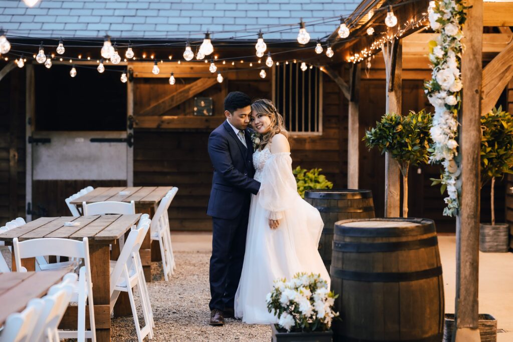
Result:
<svg viewBox="0 0 513 342"><path fill-rule="evenodd" d="M2 65L3 67L3 65ZM25 69L0 81L0 226L25 218Z"/></svg>

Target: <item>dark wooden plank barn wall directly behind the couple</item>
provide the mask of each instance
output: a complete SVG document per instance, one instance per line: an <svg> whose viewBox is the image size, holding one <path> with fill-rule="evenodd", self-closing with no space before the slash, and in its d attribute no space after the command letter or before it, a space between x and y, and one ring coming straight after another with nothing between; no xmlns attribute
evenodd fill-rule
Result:
<svg viewBox="0 0 513 342"><path fill-rule="evenodd" d="M223 100L230 91L271 98L270 75L266 79L258 77L258 73L254 76L249 73L245 75L246 79L240 75L236 79L227 79L230 77L227 76L222 85L211 87L199 96L213 98L216 116L223 116ZM324 80L324 134L291 139L293 167L321 167L336 187L345 187L347 148L343 139L347 139L347 110L340 102L342 94L337 85L328 77ZM182 81L176 84L179 82ZM167 79L136 79L134 113L168 94L169 89ZM191 99L166 114L191 116L192 108ZM134 185L179 187L169 210L173 230L211 230L211 219L206 215L212 182L212 166L207 152L210 131L135 129Z"/></svg>

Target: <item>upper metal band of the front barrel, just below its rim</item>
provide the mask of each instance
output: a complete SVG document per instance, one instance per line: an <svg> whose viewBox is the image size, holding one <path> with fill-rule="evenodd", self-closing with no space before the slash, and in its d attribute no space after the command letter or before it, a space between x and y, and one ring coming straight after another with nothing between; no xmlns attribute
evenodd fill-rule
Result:
<svg viewBox="0 0 513 342"><path fill-rule="evenodd" d="M356 252L356 253L372 253L372 252L395 252L408 251L414 249L434 247L438 245L436 236L428 237L420 240L397 241L385 243L353 243L333 241L333 251L338 252Z"/></svg>

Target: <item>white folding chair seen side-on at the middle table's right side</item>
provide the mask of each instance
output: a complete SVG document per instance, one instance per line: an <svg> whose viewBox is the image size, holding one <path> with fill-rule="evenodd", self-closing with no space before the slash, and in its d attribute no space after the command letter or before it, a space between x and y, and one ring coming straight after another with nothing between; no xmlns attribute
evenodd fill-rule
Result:
<svg viewBox="0 0 513 342"><path fill-rule="evenodd" d="M121 250L117 261L111 261L110 273L110 307L113 308L119 297L120 292L127 292L132 308L132 315L137 334L137 340L142 342L144 337L153 338L153 322L152 311L146 288L146 280L141 265L139 249L144 240L144 236L148 232L150 220L146 219L140 225L139 229L131 230L123 249ZM143 309L144 327L141 328L137 311L135 308L135 300L133 296L133 288L139 286L141 294L141 307Z"/></svg>

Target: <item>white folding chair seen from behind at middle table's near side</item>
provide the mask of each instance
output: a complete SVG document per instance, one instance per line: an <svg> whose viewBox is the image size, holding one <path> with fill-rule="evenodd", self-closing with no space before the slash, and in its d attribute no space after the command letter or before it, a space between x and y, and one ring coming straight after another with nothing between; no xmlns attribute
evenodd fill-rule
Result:
<svg viewBox="0 0 513 342"><path fill-rule="evenodd" d="M63 331L61 336L65 338L77 338L80 342L84 341L85 338L91 338L94 342L96 340L96 332L87 237L84 237L82 241L64 238L38 238L23 242L18 242L18 239L14 238L13 245L17 270L22 270L21 259L23 258L55 255L55 253L70 258L80 258L84 261L84 266L80 269L78 282L75 284L75 290L73 291L73 297L71 299L71 301L78 303L78 329L76 331ZM91 329L88 331L85 329L86 301L89 304L89 321L91 326Z"/></svg>

